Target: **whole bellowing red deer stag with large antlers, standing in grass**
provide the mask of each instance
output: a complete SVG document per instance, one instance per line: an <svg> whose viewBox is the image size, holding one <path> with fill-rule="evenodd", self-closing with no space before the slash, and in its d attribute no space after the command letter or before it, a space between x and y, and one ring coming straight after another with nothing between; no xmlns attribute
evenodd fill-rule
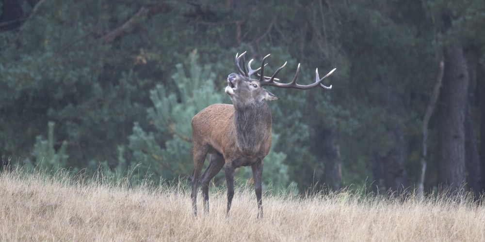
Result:
<svg viewBox="0 0 485 242"><path fill-rule="evenodd" d="M273 76L264 76L264 62L269 55L262 60L261 67L251 69L251 61L247 69L240 59L244 54L236 54L236 68L239 74L232 73L227 76L226 93L230 96L232 104L213 104L197 113L192 119L192 138L194 142L194 171L192 173L192 208L197 214L197 185L199 182L202 165L207 153L210 153L210 164L200 178L202 183L202 196L204 197L204 210L209 212L209 182L225 167L227 183L227 213L231 208L234 197L234 169L240 166L251 166L253 170L254 188L258 202L258 218L263 216L261 201L261 174L263 171L263 158L268 154L271 147L271 112L266 101L278 100L273 93L265 90L262 86L274 86L279 88L311 89L322 87L331 89L322 84L323 79L330 76L335 69L320 78L318 69L316 81L310 85L296 83L300 72L300 64L296 74L290 83L279 83L275 78L285 64L278 68ZM243 59L244 60L244 59ZM244 62L244 61L243 61ZM259 79L252 79L255 75Z"/></svg>

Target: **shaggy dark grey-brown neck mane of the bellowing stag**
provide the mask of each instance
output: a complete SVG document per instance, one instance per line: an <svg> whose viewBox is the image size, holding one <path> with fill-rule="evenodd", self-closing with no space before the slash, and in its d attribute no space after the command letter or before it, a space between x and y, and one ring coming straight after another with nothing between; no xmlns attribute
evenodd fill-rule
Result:
<svg viewBox="0 0 485 242"><path fill-rule="evenodd" d="M235 108L234 122L238 145L247 154L258 152L271 136L271 112L265 102Z"/></svg>

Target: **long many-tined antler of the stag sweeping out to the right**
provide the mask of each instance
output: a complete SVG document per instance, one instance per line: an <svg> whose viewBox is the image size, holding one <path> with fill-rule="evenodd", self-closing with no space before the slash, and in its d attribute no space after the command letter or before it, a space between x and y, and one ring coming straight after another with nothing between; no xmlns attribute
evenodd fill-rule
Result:
<svg viewBox="0 0 485 242"><path fill-rule="evenodd" d="M323 79L330 76L337 68L334 68L333 70L331 70L329 73L327 73L327 75L323 76L322 78L320 78L320 76L318 75L318 68L317 68L317 69L315 69L315 76L316 76L315 82L312 83L312 84L309 84L309 85L300 85L300 84L296 83L296 78L298 77L298 74L300 73L300 63L298 63L298 67L296 68L296 74L295 74L295 77L293 78L293 80L290 83L279 83L279 82L276 82L276 81L279 81L279 79L275 78L275 76L286 66L287 62L285 62L280 68L278 68L275 71L275 73L273 74L273 76L271 76L271 77L263 76L264 75L264 67L266 66L266 64L264 64L264 62L266 61L266 58L268 58L269 56L270 55L267 55L263 58L263 60L261 62L261 67L259 67L256 70L251 69L251 66L250 66L251 62L253 60L249 61L249 63L248 63L248 69L250 70L249 73L256 74L256 76L259 77L259 84L261 86L274 86L274 87L279 87L279 88L295 88L295 89L303 89L303 90L312 89L314 87L320 86L323 89L332 89L332 85L327 87L327 86L322 84L322 81L323 81ZM258 74L259 70L261 71L261 74Z"/></svg>

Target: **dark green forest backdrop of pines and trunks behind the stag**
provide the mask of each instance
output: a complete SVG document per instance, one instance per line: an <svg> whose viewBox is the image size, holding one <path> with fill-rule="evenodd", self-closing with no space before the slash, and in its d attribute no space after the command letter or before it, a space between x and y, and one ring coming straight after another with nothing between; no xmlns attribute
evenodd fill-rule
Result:
<svg viewBox="0 0 485 242"><path fill-rule="evenodd" d="M284 82L298 63L303 84L316 67L337 68L330 91L268 88L281 99L270 103L266 184L485 188L483 0L1 0L0 9L4 164L188 176L191 119L230 103L226 76L248 51L254 68L272 54L268 73L288 61Z"/></svg>

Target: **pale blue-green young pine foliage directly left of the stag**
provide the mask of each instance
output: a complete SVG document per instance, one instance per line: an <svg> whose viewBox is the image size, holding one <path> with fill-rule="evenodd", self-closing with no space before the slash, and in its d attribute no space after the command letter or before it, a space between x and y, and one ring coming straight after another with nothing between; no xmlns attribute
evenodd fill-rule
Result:
<svg viewBox="0 0 485 242"><path fill-rule="evenodd" d="M150 91L153 107L147 109L147 119L153 131L147 133L135 123L129 136L134 159L164 179L190 174L192 117L202 108L222 101L222 94L214 90L210 66L201 67L197 58L194 51L188 75L181 64L176 65L172 76L177 86L175 91L167 91L162 85Z"/></svg>

